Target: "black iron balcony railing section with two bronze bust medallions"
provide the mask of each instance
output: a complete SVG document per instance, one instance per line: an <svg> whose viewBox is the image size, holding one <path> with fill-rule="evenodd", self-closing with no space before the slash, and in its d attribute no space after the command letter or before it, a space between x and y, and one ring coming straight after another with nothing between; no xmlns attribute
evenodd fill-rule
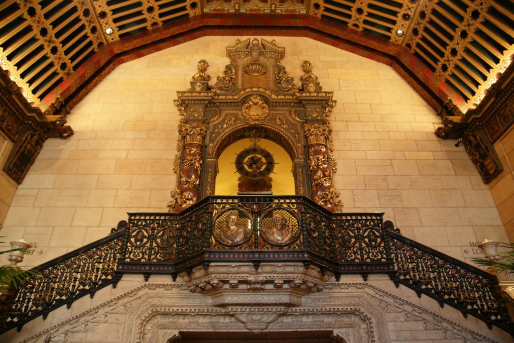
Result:
<svg viewBox="0 0 514 343"><path fill-rule="evenodd" d="M298 196L208 196L180 213L129 213L121 273L176 277L213 261L302 261L343 273L393 272L383 213L332 213Z"/></svg>

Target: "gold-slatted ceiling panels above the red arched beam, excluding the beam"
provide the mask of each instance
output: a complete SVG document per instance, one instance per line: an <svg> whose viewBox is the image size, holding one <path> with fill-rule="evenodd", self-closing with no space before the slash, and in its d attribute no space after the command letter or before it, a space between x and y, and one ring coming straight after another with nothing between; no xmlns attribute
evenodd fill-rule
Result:
<svg viewBox="0 0 514 343"><path fill-rule="evenodd" d="M309 15L330 29L403 46L468 108L514 57L511 1L7 0L0 5L0 65L38 105L103 45L204 13Z"/></svg>

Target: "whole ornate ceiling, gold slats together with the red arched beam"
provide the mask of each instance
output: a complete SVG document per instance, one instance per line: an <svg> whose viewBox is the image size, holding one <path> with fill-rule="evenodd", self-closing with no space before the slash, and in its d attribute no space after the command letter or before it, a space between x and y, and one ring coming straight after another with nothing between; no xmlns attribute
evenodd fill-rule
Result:
<svg viewBox="0 0 514 343"><path fill-rule="evenodd" d="M0 66L42 110L74 105L119 63L208 34L318 39L463 111L514 57L510 0L4 0L0 18Z"/></svg>

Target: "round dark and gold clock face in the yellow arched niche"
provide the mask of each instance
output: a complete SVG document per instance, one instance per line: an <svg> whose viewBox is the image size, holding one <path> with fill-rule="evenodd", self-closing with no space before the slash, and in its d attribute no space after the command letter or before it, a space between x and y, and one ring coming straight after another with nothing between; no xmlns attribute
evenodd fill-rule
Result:
<svg viewBox="0 0 514 343"><path fill-rule="evenodd" d="M249 179L265 178L273 171L275 161L265 149L254 147L240 152L235 158L235 168L243 177Z"/></svg>

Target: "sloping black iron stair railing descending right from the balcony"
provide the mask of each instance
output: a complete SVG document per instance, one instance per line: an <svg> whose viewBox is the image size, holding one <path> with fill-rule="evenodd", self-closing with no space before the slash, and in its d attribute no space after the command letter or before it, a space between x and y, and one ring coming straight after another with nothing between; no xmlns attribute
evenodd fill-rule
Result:
<svg viewBox="0 0 514 343"><path fill-rule="evenodd" d="M386 222L387 228L393 228ZM396 232L394 232L396 231ZM498 326L514 332L498 279L484 270L458 261L437 250L401 236L397 229L387 230L396 273L392 280L483 320L487 326Z"/></svg>

